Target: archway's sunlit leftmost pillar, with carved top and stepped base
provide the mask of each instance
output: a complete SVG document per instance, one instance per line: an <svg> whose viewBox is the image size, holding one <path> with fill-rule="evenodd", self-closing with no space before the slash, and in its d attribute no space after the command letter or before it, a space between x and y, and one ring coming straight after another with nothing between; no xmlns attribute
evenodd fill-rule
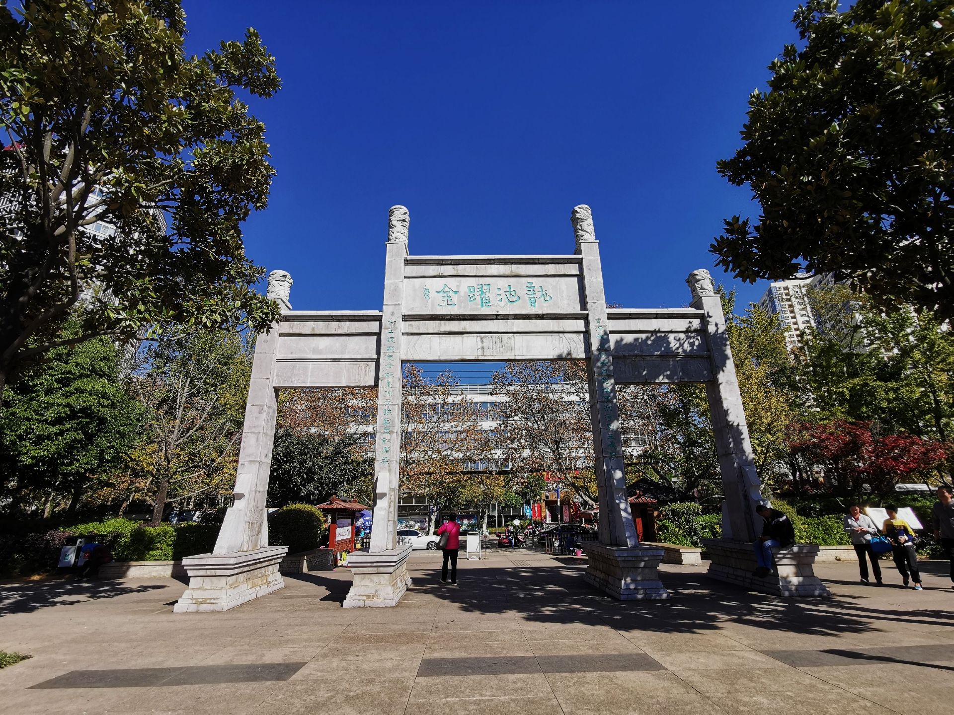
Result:
<svg viewBox="0 0 954 715"><path fill-rule="evenodd" d="M291 276L284 271L273 271L268 276L267 295L279 301L284 310L290 310L291 285ZM278 395L274 387L279 346L277 328L275 324L271 332L259 334L255 343L234 503L225 512L212 553L182 560L190 582L173 609L176 613L224 611L284 586L279 563L288 547L269 547L265 514L278 416Z"/></svg>

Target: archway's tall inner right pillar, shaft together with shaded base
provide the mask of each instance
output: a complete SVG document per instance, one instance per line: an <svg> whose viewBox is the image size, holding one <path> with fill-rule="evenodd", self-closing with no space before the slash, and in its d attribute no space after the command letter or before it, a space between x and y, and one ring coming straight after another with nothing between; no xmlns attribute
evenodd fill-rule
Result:
<svg viewBox="0 0 954 715"><path fill-rule="evenodd" d="M603 291L599 243L589 206L571 215L576 255L583 258L583 287L587 303L587 378L590 388L594 470L599 490L599 543L587 546L586 579L621 600L664 599L669 592L659 581L657 567L663 551L639 545L630 502L620 436L616 385L612 373L610 324Z"/></svg>

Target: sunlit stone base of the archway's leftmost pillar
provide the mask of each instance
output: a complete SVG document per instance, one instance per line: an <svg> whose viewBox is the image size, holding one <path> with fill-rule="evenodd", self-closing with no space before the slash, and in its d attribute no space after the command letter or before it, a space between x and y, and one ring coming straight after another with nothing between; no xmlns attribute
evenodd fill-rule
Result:
<svg viewBox="0 0 954 715"><path fill-rule="evenodd" d="M182 560L189 587L174 613L227 611L285 585L279 564L287 546L265 546L234 554L199 554Z"/></svg>

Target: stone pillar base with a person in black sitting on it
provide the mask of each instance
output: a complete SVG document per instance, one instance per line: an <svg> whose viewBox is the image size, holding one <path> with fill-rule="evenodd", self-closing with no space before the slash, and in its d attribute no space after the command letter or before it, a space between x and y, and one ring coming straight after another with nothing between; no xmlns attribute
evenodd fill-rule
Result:
<svg viewBox="0 0 954 715"><path fill-rule="evenodd" d="M703 539L702 547L712 560L708 576L716 581L735 583L759 593L773 596L831 596L831 591L815 575L813 564L819 547L810 543L796 543L787 548L772 549L778 576L770 574L759 579L754 575L758 562L755 547L750 541Z"/></svg>

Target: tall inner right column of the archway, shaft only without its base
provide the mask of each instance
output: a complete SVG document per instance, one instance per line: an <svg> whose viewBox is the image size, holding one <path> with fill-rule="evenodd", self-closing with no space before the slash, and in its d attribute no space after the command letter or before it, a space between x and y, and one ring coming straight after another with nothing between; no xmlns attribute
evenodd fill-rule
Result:
<svg viewBox="0 0 954 715"><path fill-rule="evenodd" d="M626 471L616 384L612 375L610 323L606 313L599 243L589 206L577 206L571 219L576 235L576 255L583 257L583 285L589 315L587 377L599 489L599 538L602 543L612 546L635 546L638 541L630 502L626 498Z"/></svg>

